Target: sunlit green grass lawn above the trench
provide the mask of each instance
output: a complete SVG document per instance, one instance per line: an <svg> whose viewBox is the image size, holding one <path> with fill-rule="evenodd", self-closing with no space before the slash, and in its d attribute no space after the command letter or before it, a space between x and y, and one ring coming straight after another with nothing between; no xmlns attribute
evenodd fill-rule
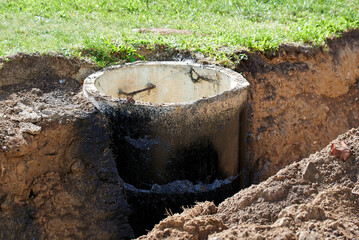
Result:
<svg viewBox="0 0 359 240"><path fill-rule="evenodd" d="M177 28L158 35L138 28ZM133 61L139 46L267 51L280 43L323 45L359 28L359 0L0 0L0 56L87 55L100 65Z"/></svg>

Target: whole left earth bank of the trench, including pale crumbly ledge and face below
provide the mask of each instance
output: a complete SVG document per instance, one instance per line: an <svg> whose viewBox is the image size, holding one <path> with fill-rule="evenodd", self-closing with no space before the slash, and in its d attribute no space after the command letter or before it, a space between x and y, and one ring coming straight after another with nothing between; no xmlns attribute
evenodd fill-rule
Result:
<svg viewBox="0 0 359 240"><path fill-rule="evenodd" d="M36 54L0 65L0 239L133 237L107 123L77 94L96 67Z"/></svg>

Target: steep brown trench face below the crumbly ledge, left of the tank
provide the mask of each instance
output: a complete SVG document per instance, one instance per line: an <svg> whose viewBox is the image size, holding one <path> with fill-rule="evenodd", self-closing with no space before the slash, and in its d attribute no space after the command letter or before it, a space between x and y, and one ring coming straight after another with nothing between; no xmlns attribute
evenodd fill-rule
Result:
<svg viewBox="0 0 359 240"><path fill-rule="evenodd" d="M97 113L0 152L1 239L126 239L128 205Z"/></svg>

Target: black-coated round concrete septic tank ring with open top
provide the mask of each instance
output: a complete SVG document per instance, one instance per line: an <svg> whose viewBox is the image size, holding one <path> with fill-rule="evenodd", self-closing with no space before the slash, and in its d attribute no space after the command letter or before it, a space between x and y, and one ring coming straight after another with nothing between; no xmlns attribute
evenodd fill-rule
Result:
<svg viewBox="0 0 359 240"><path fill-rule="evenodd" d="M127 64L89 76L84 92L109 119L129 203L162 214L165 202L220 201L232 184L238 190L248 86L232 70L183 62ZM165 202L156 207L155 199Z"/></svg>

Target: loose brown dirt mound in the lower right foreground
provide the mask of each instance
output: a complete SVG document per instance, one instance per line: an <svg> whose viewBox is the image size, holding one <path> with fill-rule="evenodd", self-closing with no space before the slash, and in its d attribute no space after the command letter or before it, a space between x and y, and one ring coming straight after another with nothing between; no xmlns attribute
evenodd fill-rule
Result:
<svg viewBox="0 0 359 240"><path fill-rule="evenodd" d="M140 239L354 239L359 236L359 128L340 135L352 156L330 145L293 163L218 208L199 203Z"/></svg>

